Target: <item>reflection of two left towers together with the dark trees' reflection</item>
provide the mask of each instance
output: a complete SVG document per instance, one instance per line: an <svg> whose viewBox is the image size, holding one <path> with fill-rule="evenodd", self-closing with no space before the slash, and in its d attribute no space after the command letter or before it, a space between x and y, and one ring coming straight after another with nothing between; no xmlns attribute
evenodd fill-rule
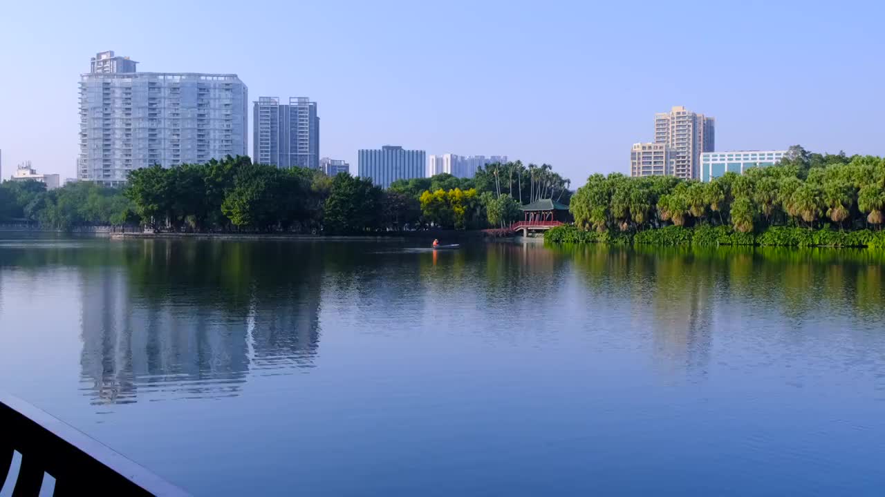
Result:
<svg viewBox="0 0 885 497"><path fill-rule="evenodd" d="M291 243L157 240L127 244L122 268L83 271L81 364L96 402L236 395L251 369L312 365L317 256Z"/></svg>

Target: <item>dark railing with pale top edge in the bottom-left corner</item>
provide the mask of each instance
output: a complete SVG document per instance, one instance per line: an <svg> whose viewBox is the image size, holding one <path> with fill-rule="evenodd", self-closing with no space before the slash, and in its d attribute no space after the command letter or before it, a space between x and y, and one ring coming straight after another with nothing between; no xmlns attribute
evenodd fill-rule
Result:
<svg viewBox="0 0 885 497"><path fill-rule="evenodd" d="M19 475L12 456L21 455ZM15 397L0 396L0 490L37 495L43 473L55 478L54 495L188 495L97 440ZM7 489L8 490L8 489Z"/></svg>

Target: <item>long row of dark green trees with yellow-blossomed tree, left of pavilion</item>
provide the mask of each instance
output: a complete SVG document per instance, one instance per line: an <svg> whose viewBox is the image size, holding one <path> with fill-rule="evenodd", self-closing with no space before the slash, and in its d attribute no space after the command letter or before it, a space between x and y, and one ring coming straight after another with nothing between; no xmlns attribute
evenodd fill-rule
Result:
<svg viewBox="0 0 885 497"><path fill-rule="evenodd" d="M121 188L81 182L46 191L34 181L5 182L0 222L63 229L140 224L176 232L482 229L519 218L516 198L522 195L526 201L568 198L567 185L546 164L526 168L516 162L491 164L469 179L438 174L400 180L384 191L348 174L330 178L312 169L279 169L252 164L249 157L227 157L142 168L131 172Z"/></svg>

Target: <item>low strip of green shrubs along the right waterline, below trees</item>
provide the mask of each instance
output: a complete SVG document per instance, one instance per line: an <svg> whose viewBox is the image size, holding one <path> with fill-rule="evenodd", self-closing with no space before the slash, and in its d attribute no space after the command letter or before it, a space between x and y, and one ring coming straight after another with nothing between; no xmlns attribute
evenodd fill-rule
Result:
<svg viewBox="0 0 885 497"><path fill-rule="evenodd" d="M759 233L735 232L730 226L666 226L636 233L584 231L575 226L559 226L544 233L552 243L610 243L614 245L692 245L717 247L744 245L761 247L858 247L885 248L885 231L810 230L772 226Z"/></svg>

